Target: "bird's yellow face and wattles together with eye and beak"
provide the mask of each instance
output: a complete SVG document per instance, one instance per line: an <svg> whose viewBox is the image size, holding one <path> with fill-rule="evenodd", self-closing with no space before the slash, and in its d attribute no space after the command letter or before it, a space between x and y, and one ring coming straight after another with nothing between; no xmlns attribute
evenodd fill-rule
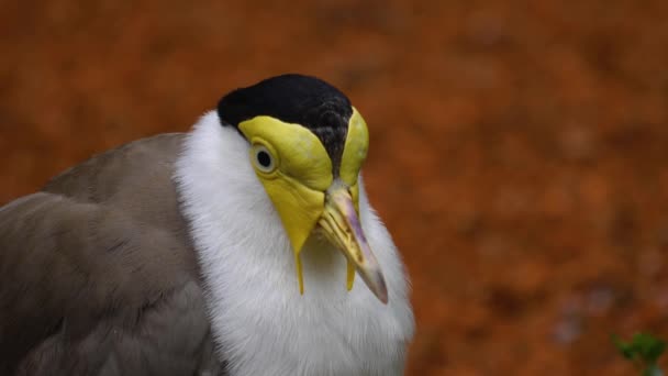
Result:
<svg viewBox="0 0 668 376"><path fill-rule="evenodd" d="M313 132L300 124L259 115L238 124L250 142L250 161L283 224L297 265L300 292L303 275L300 252L319 226L348 259L347 286L355 269L367 286L387 302L387 288L359 222L357 176L368 150L368 131L357 110L334 179L332 159Z"/></svg>

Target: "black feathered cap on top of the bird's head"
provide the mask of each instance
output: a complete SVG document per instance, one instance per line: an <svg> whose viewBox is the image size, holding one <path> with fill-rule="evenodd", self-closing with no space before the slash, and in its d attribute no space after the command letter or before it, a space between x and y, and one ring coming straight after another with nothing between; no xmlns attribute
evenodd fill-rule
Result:
<svg viewBox="0 0 668 376"><path fill-rule="evenodd" d="M353 108L343 92L319 78L282 75L230 92L218 103L218 115L232 126L258 115L301 124L320 139L336 173Z"/></svg>

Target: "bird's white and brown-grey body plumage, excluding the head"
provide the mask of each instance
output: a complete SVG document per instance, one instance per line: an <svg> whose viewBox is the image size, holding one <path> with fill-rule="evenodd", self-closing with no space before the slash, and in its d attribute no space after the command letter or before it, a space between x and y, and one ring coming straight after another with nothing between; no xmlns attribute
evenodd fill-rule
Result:
<svg viewBox="0 0 668 376"><path fill-rule="evenodd" d="M360 180L389 303L312 236L305 292L248 143L218 114L0 208L2 375L400 375L408 281Z"/></svg>

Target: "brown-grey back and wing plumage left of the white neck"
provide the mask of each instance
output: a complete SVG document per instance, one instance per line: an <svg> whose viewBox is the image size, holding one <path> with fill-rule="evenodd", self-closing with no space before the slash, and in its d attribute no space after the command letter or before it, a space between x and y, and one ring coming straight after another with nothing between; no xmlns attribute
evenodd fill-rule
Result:
<svg viewBox="0 0 668 376"><path fill-rule="evenodd" d="M112 150L0 209L1 375L223 375L174 163Z"/></svg>

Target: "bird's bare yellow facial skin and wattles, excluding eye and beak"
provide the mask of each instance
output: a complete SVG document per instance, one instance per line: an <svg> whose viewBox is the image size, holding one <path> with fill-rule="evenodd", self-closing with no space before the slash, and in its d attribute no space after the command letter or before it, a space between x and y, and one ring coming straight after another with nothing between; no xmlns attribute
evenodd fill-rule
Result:
<svg viewBox="0 0 668 376"><path fill-rule="evenodd" d="M252 145L263 145L271 153L276 169L256 175L274 202L294 252L300 292L303 279L299 254L325 210L325 192L333 186L332 161L320 140L307 128L260 115L243 121L238 129ZM348 133L339 169L359 215L357 175L368 150L366 123L356 109L348 122ZM254 158L250 147L250 158ZM348 289L353 287L354 266L348 263Z"/></svg>

